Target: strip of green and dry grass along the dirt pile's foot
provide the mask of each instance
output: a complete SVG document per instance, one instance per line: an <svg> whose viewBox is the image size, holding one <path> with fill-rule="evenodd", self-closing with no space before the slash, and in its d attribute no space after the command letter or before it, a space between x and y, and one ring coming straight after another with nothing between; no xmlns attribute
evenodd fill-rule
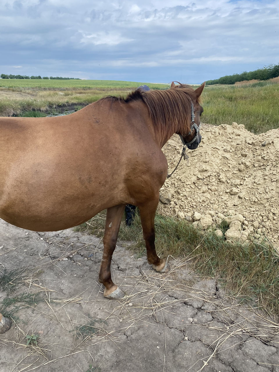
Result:
<svg viewBox="0 0 279 372"><path fill-rule="evenodd" d="M104 228L103 213L80 226L81 231L99 236L103 235ZM161 257L170 254L191 258L192 267L199 275L218 278L227 291L243 299L256 300L259 307L279 315L279 256L271 245L266 242L232 244L214 231L204 233L186 221L160 215L155 217L155 230L155 244ZM135 241L129 246L134 255L145 254L138 215L130 228L122 221L119 240Z"/></svg>

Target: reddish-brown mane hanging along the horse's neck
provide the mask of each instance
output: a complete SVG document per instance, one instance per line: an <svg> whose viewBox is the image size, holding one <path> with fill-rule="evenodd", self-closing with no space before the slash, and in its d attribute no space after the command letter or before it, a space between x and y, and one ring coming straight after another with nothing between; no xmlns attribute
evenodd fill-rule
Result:
<svg viewBox="0 0 279 372"><path fill-rule="evenodd" d="M126 98L107 96L104 99L122 103L142 100L148 108L155 132L167 138L178 130L186 137L190 129L191 102L195 104L197 100L195 90L185 84L166 90L145 92L137 89Z"/></svg>

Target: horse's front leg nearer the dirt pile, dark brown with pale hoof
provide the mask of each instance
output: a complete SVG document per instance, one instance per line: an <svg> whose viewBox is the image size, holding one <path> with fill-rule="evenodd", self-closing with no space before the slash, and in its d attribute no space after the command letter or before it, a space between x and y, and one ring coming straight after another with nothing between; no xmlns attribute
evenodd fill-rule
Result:
<svg viewBox="0 0 279 372"><path fill-rule="evenodd" d="M161 259L155 249L155 228L154 218L159 200L150 201L142 206L139 206L141 215L141 225L143 237L145 240L147 261L153 266L153 269L160 273L166 273L170 270L166 260Z"/></svg>

